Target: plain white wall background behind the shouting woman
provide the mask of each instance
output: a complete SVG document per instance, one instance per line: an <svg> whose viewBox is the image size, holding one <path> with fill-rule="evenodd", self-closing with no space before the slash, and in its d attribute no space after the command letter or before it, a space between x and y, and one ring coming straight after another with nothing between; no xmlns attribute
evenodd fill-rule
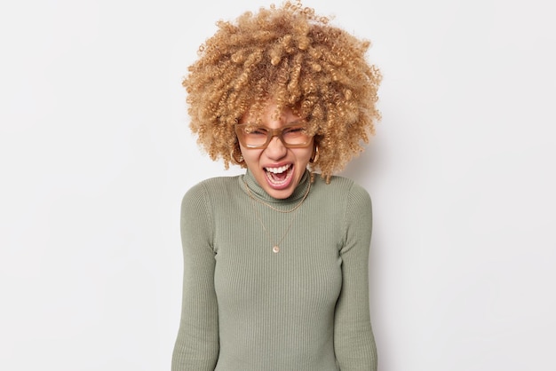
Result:
<svg viewBox="0 0 556 371"><path fill-rule="evenodd" d="M305 3L384 74L343 173L374 201L380 371L556 370L549 3ZM240 172L200 153L181 78L216 20L266 4L1 5L0 369L170 369L181 197Z"/></svg>

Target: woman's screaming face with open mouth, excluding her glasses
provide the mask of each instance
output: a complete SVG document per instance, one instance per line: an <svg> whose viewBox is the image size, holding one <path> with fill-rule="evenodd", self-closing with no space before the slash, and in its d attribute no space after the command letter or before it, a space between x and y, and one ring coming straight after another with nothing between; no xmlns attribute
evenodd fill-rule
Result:
<svg viewBox="0 0 556 371"><path fill-rule="evenodd" d="M262 124L270 129L282 128L291 122L298 122L301 117L289 108L275 117L276 105L270 102L262 112ZM250 121L251 119L251 121ZM240 123L253 122L251 113L242 117ZM250 172L266 193L276 199L290 197L305 173L311 154L313 154L313 138L309 146L287 148L280 138L273 137L263 149L246 148L240 144L242 156Z"/></svg>

